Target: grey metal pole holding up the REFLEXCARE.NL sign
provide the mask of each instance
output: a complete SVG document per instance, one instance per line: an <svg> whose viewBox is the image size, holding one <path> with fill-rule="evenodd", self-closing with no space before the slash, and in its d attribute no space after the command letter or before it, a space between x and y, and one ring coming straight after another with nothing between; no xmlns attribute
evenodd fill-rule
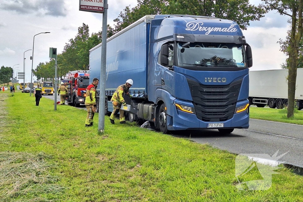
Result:
<svg viewBox="0 0 303 202"><path fill-rule="evenodd" d="M104 0L104 12L102 17L102 50L101 50L101 71L100 71L100 94L99 94L99 123L98 131L104 132L105 119L105 74L106 74L106 40L107 40L107 0Z"/></svg>

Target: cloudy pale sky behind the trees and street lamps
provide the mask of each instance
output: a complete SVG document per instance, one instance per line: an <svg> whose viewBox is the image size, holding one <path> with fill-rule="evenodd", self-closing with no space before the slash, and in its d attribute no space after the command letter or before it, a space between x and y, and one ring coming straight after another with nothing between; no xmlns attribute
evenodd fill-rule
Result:
<svg viewBox="0 0 303 202"><path fill-rule="evenodd" d="M252 4L259 0L251 0ZM111 0L108 8L108 24L137 0ZM30 82L33 37L40 32L51 32L35 36L33 69L39 62L49 61L49 47L58 53L68 40L75 38L78 27L85 23L90 33L102 29L102 14L79 11L78 0L1 0L0 1L0 67L13 67L23 72L25 55L25 79ZM288 17L276 11L265 14L260 21L250 22L243 34L252 48L253 67L250 70L280 69L287 58L279 49L280 38L285 39L289 24ZM27 51L24 53L24 51ZM20 64L20 65L16 65ZM33 80L35 77L33 77Z"/></svg>

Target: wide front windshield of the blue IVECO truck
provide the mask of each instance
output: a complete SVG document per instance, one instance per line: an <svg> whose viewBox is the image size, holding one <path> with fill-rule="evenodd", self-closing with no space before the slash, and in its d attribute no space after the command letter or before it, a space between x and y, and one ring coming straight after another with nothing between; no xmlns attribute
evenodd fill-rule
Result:
<svg viewBox="0 0 303 202"><path fill-rule="evenodd" d="M179 67L241 67L247 68L243 44L195 42L182 47L178 42Z"/></svg>

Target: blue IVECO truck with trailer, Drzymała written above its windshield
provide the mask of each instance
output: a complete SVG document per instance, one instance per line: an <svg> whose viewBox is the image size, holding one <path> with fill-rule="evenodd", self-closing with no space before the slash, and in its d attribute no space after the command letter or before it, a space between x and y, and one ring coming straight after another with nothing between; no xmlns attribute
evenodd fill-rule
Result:
<svg viewBox="0 0 303 202"><path fill-rule="evenodd" d="M100 78L101 44L89 51L90 80ZM132 79L130 122L163 133L249 127L251 47L238 24L191 15L146 15L107 39L105 112L116 88ZM99 102L97 98L97 106Z"/></svg>

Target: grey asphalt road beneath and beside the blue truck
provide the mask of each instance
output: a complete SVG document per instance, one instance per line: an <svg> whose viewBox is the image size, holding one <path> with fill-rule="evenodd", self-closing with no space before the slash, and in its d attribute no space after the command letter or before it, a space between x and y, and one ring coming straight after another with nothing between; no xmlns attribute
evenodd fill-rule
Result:
<svg viewBox="0 0 303 202"><path fill-rule="evenodd" d="M55 95L43 97L54 100ZM57 96L60 101L60 97ZM80 105L85 109L85 105ZM269 154L278 150L285 154L278 161L303 167L303 126L250 119L249 129L235 129L222 135L218 130L174 131L173 136L188 138L201 144L210 144L234 154Z"/></svg>

